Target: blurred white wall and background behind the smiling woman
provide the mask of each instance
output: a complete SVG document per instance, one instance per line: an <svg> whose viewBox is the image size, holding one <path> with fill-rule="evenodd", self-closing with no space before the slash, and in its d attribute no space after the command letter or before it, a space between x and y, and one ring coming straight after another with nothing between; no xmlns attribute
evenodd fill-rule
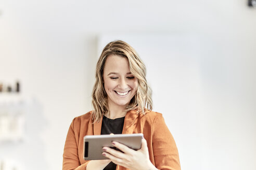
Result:
<svg viewBox="0 0 256 170"><path fill-rule="evenodd" d="M255 4L252 1L252 4ZM256 7L228 1L0 1L0 170L61 169L109 41L147 66L182 169L256 169Z"/></svg>

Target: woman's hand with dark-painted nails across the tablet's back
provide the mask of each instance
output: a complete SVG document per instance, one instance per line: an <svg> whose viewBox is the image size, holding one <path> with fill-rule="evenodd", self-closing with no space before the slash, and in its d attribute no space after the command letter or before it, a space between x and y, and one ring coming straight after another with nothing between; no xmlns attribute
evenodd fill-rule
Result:
<svg viewBox="0 0 256 170"><path fill-rule="evenodd" d="M103 155L109 158L113 163L133 170L152 169L153 164L149 160L146 139L142 139L142 148L137 151L117 141L113 141L112 145L124 152L122 153L109 147L103 147ZM156 169L155 166L153 166L153 168Z"/></svg>

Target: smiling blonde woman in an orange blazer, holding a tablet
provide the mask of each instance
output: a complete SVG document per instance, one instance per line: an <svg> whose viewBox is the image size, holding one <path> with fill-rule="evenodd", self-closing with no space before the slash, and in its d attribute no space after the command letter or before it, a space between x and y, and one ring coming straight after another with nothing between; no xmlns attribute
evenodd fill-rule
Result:
<svg viewBox="0 0 256 170"><path fill-rule="evenodd" d="M70 125L63 170L181 168L175 141L162 114L151 111L146 67L124 41L113 41L103 49L92 98L94 110L74 118ZM85 161L83 137L110 133L143 133L142 148L135 151L114 141L122 152L103 147L103 155L109 160Z"/></svg>

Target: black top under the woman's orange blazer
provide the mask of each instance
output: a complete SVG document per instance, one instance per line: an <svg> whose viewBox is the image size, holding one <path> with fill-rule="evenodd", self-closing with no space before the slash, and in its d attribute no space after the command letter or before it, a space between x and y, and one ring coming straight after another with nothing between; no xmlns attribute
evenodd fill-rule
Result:
<svg viewBox="0 0 256 170"><path fill-rule="evenodd" d="M123 131L123 123L124 118L117 118L117 119L109 119L105 116L103 116L102 125L101 125L101 135L106 134L122 134ZM113 162L110 162L103 170L115 170L117 167L116 164Z"/></svg>

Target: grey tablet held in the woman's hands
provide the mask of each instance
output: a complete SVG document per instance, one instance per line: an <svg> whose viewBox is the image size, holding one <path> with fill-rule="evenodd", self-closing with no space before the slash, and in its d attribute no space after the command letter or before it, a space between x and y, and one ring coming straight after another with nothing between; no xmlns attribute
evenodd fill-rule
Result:
<svg viewBox="0 0 256 170"><path fill-rule="evenodd" d="M86 135L84 136L84 160L108 159L102 155L103 147L107 146L118 150L112 141L118 141L129 148L138 150L142 147L142 133L116 135Z"/></svg>

